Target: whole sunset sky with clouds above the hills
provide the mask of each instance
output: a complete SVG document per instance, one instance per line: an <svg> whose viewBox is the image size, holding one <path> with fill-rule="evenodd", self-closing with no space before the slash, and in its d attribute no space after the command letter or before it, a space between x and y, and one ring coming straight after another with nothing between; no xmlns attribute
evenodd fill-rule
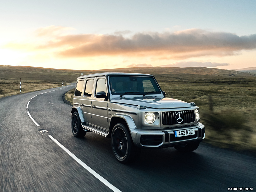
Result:
<svg viewBox="0 0 256 192"><path fill-rule="evenodd" d="M256 67L255 0L0 2L0 65Z"/></svg>

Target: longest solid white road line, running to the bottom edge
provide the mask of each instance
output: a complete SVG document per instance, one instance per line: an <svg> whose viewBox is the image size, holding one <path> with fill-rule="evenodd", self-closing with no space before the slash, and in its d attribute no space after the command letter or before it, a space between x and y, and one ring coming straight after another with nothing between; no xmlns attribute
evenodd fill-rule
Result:
<svg viewBox="0 0 256 192"><path fill-rule="evenodd" d="M66 147L61 145L55 138L53 138L51 135L48 135L57 145L59 145L67 154L69 154L75 161L77 161L80 165L82 165L86 170L88 170L94 177L99 179L103 184L105 184L107 187L109 187L112 191L115 192L121 192L118 188L110 184L106 179L104 179L102 176L100 176L98 173L96 173L92 168L90 168L88 165L86 165L84 162L82 162L79 158L77 158L73 153L71 153Z"/></svg>

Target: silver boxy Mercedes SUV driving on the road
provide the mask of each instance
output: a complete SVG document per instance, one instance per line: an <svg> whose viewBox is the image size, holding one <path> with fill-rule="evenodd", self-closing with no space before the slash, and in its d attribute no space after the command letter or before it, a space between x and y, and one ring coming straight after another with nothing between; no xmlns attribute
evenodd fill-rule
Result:
<svg viewBox="0 0 256 192"><path fill-rule="evenodd" d="M71 111L72 133L111 137L114 155L131 162L143 147L196 150L205 138L195 103L165 97L154 76L97 73L77 79Z"/></svg>

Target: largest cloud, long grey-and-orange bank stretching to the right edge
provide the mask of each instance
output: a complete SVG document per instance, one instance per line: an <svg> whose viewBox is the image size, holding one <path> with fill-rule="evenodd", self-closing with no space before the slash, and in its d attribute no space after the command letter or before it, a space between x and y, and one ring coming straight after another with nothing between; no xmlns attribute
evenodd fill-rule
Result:
<svg viewBox="0 0 256 192"><path fill-rule="evenodd" d="M47 40L35 39L34 44L29 44L34 46L35 51L51 50L56 57L128 56L151 57L151 60L223 57L238 55L242 50L256 49L256 34L238 36L225 32L187 29L174 33L136 33L129 37L124 37L131 33L129 30L116 31L114 35L63 35L63 32L70 29L72 28L53 25L39 28L35 31L37 38L47 37ZM18 44L20 43L12 42L7 47L22 49L23 45Z"/></svg>

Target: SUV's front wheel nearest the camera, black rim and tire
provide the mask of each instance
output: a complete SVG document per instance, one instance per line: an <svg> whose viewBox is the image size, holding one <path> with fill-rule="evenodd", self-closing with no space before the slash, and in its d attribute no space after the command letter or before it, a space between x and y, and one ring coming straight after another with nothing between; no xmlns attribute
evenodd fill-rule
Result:
<svg viewBox="0 0 256 192"><path fill-rule="evenodd" d="M122 123L114 126L111 134L111 146L116 159L123 164L134 161L140 155L131 138L128 128Z"/></svg>

